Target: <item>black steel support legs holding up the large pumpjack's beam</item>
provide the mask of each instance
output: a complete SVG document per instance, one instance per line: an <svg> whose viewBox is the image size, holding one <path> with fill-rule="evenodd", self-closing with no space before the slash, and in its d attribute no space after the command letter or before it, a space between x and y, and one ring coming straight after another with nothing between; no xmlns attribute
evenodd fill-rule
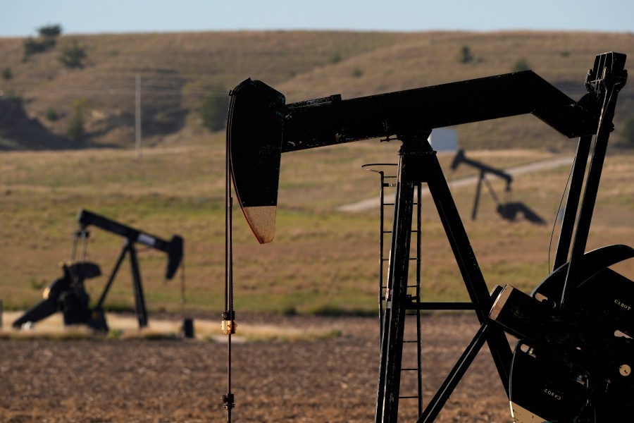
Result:
<svg viewBox="0 0 634 423"><path fill-rule="evenodd" d="M489 345L500 379L508 392L512 351L502 329L487 324L492 296L487 290L471 243L462 224L449 186L435 151L428 143L429 132L399 135L397 194L394 205L392 250L388 271L389 294L383 314L380 372L376 396L375 422L397 422L399 385L402 367L402 345L406 309L418 308L407 298L411 224L413 219L414 190L416 184L427 183L438 215L447 233L449 245L459 266L471 306L480 321L480 329L465 353L456 363L445 383L431 403L425 407L418 422L433 422L445 404L461 375L473 361L482 345ZM433 304L433 303L432 303Z"/></svg>

